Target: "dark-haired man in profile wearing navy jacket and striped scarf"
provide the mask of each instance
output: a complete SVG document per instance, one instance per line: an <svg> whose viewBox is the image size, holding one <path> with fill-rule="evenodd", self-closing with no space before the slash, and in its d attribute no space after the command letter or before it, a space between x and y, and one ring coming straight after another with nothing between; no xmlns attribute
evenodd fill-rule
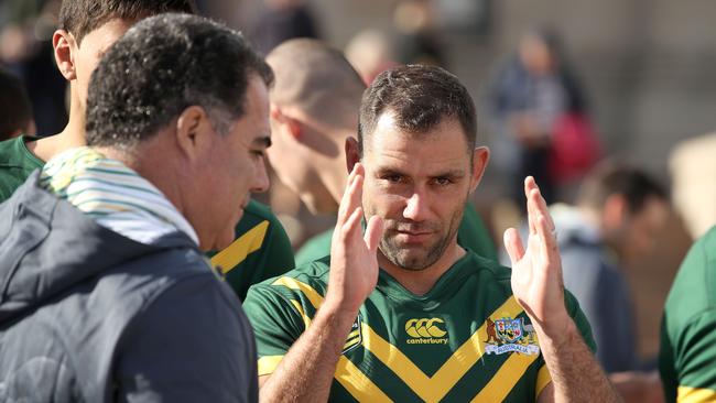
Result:
<svg viewBox="0 0 716 403"><path fill-rule="evenodd" d="M109 48L89 146L0 205L0 401L257 400L249 323L202 252L269 186L272 78L198 17L147 19Z"/></svg>

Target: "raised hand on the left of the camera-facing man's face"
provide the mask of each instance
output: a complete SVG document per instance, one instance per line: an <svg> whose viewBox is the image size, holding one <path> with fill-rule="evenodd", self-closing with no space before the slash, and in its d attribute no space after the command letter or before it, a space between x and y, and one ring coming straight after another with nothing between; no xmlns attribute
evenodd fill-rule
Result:
<svg viewBox="0 0 716 403"><path fill-rule="evenodd" d="M382 219L372 216L364 236L361 219L365 168L354 166L340 207L330 244L330 274L324 305L355 315L378 282L378 242L383 232ZM350 320L355 317L351 316Z"/></svg>

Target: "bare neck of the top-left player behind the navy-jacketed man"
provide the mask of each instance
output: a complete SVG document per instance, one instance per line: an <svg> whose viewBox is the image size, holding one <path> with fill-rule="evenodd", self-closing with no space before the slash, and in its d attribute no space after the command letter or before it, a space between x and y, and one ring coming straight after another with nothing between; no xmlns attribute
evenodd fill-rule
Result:
<svg viewBox="0 0 716 403"><path fill-rule="evenodd" d="M55 135L29 142L28 150L40 160L47 162L65 150L83 146L86 143L85 111L73 100L69 121L65 129Z"/></svg>

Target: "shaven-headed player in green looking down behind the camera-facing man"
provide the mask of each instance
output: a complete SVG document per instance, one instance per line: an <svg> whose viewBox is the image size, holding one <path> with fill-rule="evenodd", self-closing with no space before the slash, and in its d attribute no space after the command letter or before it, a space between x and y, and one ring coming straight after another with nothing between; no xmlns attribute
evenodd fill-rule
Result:
<svg viewBox="0 0 716 403"><path fill-rule="evenodd" d="M356 135L366 86L339 51L315 40L284 42L269 53L267 62L276 76L270 95L271 164L308 209L336 214L346 187L344 149L347 139ZM296 263L330 253L332 231L308 240L296 253ZM492 239L469 203L457 241L497 260Z"/></svg>

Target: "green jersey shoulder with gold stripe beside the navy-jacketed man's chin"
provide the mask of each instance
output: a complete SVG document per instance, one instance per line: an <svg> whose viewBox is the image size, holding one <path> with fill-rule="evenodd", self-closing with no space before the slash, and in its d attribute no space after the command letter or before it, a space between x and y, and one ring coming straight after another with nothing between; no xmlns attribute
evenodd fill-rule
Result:
<svg viewBox="0 0 716 403"><path fill-rule="evenodd" d="M218 253L211 264L243 301L252 284L283 274L295 266L291 240L271 209L249 202L236 227L236 240Z"/></svg>

